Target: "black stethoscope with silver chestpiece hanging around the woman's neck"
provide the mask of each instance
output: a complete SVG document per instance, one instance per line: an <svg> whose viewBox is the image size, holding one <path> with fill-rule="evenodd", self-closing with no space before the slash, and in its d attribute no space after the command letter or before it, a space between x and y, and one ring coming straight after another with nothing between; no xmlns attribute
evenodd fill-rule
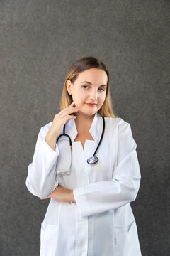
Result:
<svg viewBox="0 0 170 256"><path fill-rule="evenodd" d="M105 119L104 117L102 117L103 119L103 131L102 131L102 134L101 134L101 139L100 139L100 142L98 142L98 146L96 148L96 151L94 152L94 155L89 157L89 159L87 159L87 163L88 164L96 164L97 161L98 161L98 157L95 155L96 152L98 151L98 147L100 146L101 144L101 141L103 139L103 134L104 134L104 131L105 131ZM65 133L65 125L64 124L64 129L63 129L63 134L60 134L58 137L57 137L57 140L56 140L56 143L58 143L58 140L60 139L60 137L62 136L66 136L68 139L69 139L69 146L70 146L70 150L71 150L71 164L69 166L69 170L68 171L57 171L57 174L70 174L70 169L71 169L71 166L72 166L72 140L70 139L69 135Z"/></svg>

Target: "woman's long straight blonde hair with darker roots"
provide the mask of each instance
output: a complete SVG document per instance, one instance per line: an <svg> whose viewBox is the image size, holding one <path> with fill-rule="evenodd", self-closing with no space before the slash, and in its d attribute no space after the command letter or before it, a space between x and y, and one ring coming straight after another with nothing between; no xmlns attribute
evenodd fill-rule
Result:
<svg viewBox="0 0 170 256"><path fill-rule="evenodd" d="M62 111L65 107L69 107L69 105L73 102L72 95L69 95L67 91L67 85L66 85L67 80L71 80L71 82L74 83L79 73L81 73L84 70L88 70L90 68L98 68L98 69L104 70L108 76L106 98L100 110L98 110L98 113L101 114L101 116L103 117L117 118L118 116L115 115L112 107L111 94L110 94L110 75L108 72L108 68L100 60L94 57L81 58L75 61L69 68L69 72L67 74L67 78L64 82L64 87L62 90L62 97L60 100L60 111Z"/></svg>

